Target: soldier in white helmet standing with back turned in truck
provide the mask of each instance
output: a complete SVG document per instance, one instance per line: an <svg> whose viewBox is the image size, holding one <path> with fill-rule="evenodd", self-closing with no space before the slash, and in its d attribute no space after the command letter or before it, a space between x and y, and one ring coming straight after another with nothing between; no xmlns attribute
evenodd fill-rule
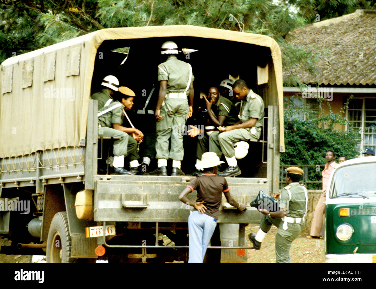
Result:
<svg viewBox="0 0 376 289"><path fill-rule="evenodd" d="M183 160L183 131L185 121L192 116L193 81L190 64L176 58L177 45L173 41L162 44L161 54L168 55L167 61L158 65L160 81L158 102L155 108L156 123L156 159L158 168L150 175L167 176L167 159L171 158L171 176L181 176L180 161ZM189 95L189 105L187 102ZM171 138L171 149L168 150Z"/></svg>

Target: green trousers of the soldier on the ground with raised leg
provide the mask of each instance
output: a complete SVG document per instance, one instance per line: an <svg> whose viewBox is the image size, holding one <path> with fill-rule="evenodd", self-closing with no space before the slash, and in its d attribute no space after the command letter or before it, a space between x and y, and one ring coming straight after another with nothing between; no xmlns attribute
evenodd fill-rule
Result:
<svg viewBox="0 0 376 289"><path fill-rule="evenodd" d="M282 219L271 218L268 215L262 215L260 222L260 229L262 231L268 233L272 224L278 228L276 235L276 262L291 263L291 243L296 239L297 236L299 236L300 232L305 227L305 222L302 222L302 224L287 223L287 230L284 230L282 228Z"/></svg>

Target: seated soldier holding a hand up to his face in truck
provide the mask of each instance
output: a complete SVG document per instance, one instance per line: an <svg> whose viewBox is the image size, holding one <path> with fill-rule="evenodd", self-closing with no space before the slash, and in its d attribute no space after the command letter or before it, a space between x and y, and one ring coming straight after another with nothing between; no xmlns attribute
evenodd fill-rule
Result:
<svg viewBox="0 0 376 289"><path fill-rule="evenodd" d="M196 167L201 163L202 154L208 152L209 150L209 139L211 137L218 138L219 131L216 129L218 126L228 126L233 125L237 122L238 111L236 110L233 103L226 97L221 96L217 87L210 87L208 92L208 97L203 96L205 100L205 113L206 116L206 134L203 134L203 131L199 131L195 126L191 126L191 129L188 130L188 134L191 137L203 134L202 138L199 138L197 142L196 149ZM199 170L191 173L188 176L199 176L202 173Z"/></svg>

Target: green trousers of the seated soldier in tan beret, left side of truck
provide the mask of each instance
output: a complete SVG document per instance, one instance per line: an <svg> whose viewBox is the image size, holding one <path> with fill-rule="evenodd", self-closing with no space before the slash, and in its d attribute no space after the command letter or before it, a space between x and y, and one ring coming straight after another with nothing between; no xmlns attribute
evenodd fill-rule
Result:
<svg viewBox="0 0 376 289"><path fill-rule="evenodd" d="M132 135L123 131L108 127L98 127L98 135L104 137L121 137L119 140L114 141L114 149L112 153L114 156L119 157L121 155L127 156L129 160L138 160L139 155L137 152L137 141Z"/></svg>

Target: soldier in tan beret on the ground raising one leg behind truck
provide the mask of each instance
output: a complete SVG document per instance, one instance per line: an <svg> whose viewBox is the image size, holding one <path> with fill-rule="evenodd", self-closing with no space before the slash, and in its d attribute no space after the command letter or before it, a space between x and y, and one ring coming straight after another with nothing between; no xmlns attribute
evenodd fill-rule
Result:
<svg viewBox="0 0 376 289"><path fill-rule="evenodd" d="M299 167L285 169L287 186L282 189L279 196L279 211L259 209L264 214L261 218L260 228L255 235L249 234L253 248L259 250L261 242L273 224L278 228L276 236L276 261L277 263L291 263L290 247L293 240L299 236L305 227L305 213L307 211L307 190L299 184L303 170Z"/></svg>

